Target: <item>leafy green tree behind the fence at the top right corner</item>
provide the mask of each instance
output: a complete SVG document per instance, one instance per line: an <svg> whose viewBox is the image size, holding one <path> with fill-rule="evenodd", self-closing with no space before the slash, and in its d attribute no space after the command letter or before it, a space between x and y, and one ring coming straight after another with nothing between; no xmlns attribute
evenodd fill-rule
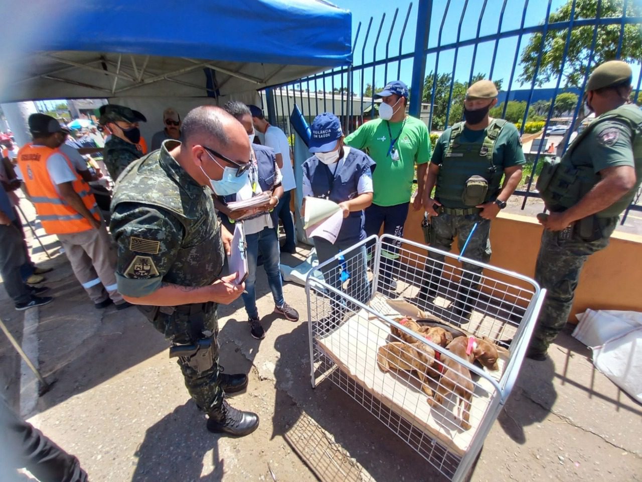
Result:
<svg viewBox="0 0 642 482"><path fill-rule="evenodd" d="M624 0L609 0L600 2L600 18L621 17L623 13ZM550 23L569 21L571 18L571 6L573 0L566 0L566 3L549 17ZM594 19L597 15L598 0L575 0L575 20ZM639 2L627 3L627 17L639 17L642 15L642 6ZM593 64L591 70L605 60L616 57L618 39L620 38L620 24L601 25L598 27L595 51L593 53ZM535 33L521 55L523 71L519 76L522 84L532 82L537 66L537 57L540 51L542 55L539 73L535 84L541 87L551 78L557 78L561 74L566 79L567 85L580 87L587 65L591 56L591 44L593 42L594 26L577 26L571 31L568 55L564 71L562 70L562 57L568 30L549 30L542 45L542 34ZM624 39L622 42L621 59L627 62L639 62L642 58L642 30L638 24L626 24L624 27Z"/></svg>

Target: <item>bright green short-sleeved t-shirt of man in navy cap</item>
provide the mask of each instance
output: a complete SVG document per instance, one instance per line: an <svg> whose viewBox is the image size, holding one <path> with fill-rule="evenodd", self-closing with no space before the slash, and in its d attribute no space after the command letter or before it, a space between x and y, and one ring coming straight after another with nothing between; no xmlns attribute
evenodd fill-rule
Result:
<svg viewBox="0 0 642 482"><path fill-rule="evenodd" d="M388 154L391 137L392 140L396 139L394 147L399 153L398 161L393 161ZM410 202L415 164L425 164L430 159L426 124L411 116L407 116L403 122L371 120L347 136L345 143L365 150L377 163L372 174L374 204L395 206Z"/></svg>

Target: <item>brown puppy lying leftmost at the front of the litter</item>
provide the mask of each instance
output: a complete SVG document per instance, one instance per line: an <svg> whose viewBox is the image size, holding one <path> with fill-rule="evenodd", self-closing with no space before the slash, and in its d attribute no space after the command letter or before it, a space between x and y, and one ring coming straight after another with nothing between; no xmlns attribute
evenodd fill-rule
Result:
<svg viewBox="0 0 642 482"><path fill-rule="evenodd" d="M415 341L406 344L403 341L393 341L377 350L377 364L381 371L415 370L421 382L421 389L428 395L433 396L433 391L428 386L428 377L433 375L435 370L431 367L435 363L435 350L426 343Z"/></svg>

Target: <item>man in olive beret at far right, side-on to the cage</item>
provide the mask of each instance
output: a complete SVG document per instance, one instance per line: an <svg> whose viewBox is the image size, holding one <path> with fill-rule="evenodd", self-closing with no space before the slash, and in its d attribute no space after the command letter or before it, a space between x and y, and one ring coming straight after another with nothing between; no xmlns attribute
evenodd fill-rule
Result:
<svg viewBox="0 0 642 482"><path fill-rule="evenodd" d="M550 214L544 225L535 280L548 290L526 356L543 361L566 324L582 265L609 244L620 213L642 179L642 111L629 104L632 71L620 60L598 66L586 84L595 120L559 162L537 181Z"/></svg>

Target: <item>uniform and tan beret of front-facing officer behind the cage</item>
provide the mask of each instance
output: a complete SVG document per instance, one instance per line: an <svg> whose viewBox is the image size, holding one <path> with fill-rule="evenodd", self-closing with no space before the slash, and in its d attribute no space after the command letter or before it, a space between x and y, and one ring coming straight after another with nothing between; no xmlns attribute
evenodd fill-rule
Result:
<svg viewBox="0 0 642 482"><path fill-rule="evenodd" d="M493 99L498 95L495 85L489 80L480 80L471 85L466 93L467 99ZM480 216L478 204L494 201L501 192L501 179L506 168L523 165L526 162L517 128L504 120L492 120L483 130L468 129L459 122L447 129L437 140L430 160L439 166L435 184L435 201L440 202L437 216L429 223L431 247L450 251L453 240L457 238L459 249L474 229L474 233L464 251L464 257L488 263L490 261L490 220ZM485 195L472 202L464 196L467 183L473 176L482 179L487 185ZM482 199L483 198L483 199ZM475 228L475 225L477 226ZM429 251L426 271L427 280L419 294L423 301L430 301L437 294L444 296L444 281L441 279L444 254ZM473 308L474 289L481 279L482 266L462 263L464 272L460 289L456 296L455 310L458 314L469 316Z"/></svg>

